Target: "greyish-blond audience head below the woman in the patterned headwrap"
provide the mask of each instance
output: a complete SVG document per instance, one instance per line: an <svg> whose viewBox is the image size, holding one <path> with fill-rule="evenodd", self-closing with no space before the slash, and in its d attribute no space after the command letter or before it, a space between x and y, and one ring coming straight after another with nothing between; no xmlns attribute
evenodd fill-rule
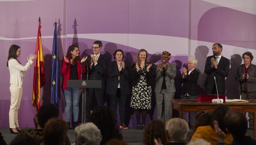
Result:
<svg viewBox="0 0 256 145"><path fill-rule="evenodd" d="M189 133L188 123L181 118L171 118L168 120L165 129L171 141L185 142Z"/></svg>

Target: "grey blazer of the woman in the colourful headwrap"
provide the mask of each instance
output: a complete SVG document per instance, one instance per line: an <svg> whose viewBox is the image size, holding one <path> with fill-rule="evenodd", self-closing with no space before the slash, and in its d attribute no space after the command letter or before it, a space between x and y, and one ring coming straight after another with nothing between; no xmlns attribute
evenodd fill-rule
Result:
<svg viewBox="0 0 256 145"><path fill-rule="evenodd" d="M163 68L162 68L163 69ZM163 73L163 71L162 71ZM156 87L155 93L160 93L162 90L163 76L160 73L158 66L156 66ZM167 71L165 73L165 83L167 93L175 92L174 78L176 76L176 66L173 63L168 63Z"/></svg>

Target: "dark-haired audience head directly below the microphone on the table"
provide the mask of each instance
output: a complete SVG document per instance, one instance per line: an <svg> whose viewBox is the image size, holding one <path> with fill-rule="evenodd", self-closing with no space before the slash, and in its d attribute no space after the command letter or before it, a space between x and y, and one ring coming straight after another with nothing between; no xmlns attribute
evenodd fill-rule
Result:
<svg viewBox="0 0 256 145"><path fill-rule="evenodd" d="M211 116L211 126L212 128L214 128L213 126L213 121L216 120L218 121L219 124L219 128L224 132L226 132L226 126L224 125L224 117L226 115L226 113L229 111L229 107L223 104L220 104L219 106L217 106Z"/></svg>

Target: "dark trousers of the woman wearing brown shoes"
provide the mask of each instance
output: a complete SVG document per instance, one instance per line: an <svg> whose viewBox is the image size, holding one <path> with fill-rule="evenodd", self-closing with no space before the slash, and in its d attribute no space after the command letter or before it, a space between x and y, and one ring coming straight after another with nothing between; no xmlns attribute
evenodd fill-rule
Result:
<svg viewBox="0 0 256 145"><path fill-rule="evenodd" d="M119 105L119 116L120 124L124 123L124 114L125 114L125 103L127 95L121 95L120 88L117 88L116 96L109 95L110 97L110 109L113 115L117 118L117 102Z"/></svg>

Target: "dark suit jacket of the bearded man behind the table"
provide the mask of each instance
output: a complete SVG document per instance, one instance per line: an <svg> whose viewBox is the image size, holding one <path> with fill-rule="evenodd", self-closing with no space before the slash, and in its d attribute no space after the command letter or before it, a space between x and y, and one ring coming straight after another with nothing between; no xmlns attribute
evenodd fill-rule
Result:
<svg viewBox="0 0 256 145"><path fill-rule="evenodd" d="M214 55L207 57L204 72L207 74L204 87L207 89L214 89L214 76L216 76L216 84L218 88L218 92L220 94L225 93L225 77L229 75L229 59L221 56L219 60L218 68L215 69L211 67L211 58L215 57Z"/></svg>

